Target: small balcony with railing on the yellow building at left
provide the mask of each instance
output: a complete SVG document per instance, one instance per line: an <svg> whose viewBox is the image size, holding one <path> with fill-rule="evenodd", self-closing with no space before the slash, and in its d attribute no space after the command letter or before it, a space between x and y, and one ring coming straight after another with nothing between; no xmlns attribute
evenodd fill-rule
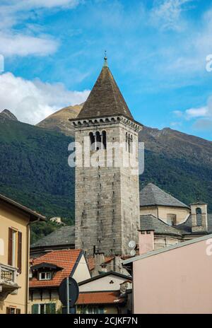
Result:
<svg viewBox="0 0 212 328"><path fill-rule="evenodd" d="M5 300L8 294L15 293L20 288L16 282L18 269L0 263L0 300Z"/></svg>

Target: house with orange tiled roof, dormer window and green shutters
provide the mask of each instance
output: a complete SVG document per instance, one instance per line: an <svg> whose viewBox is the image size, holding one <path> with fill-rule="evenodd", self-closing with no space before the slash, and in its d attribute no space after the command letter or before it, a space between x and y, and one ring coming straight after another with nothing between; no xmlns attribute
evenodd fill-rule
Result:
<svg viewBox="0 0 212 328"><path fill-rule="evenodd" d="M71 276L78 283L90 279L83 250L54 250L31 261L30 313L61 310L59 286Z"/></svg>

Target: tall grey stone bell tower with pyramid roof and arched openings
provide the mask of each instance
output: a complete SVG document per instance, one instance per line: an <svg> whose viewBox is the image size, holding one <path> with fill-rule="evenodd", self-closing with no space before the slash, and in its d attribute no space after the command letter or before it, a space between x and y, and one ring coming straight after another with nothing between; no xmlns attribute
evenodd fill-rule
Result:
<svg viewBox="0 0 212 328"><path fill-rule="evenodd" d="M107 57L80 114L70 121L76 141L76 248L88 255L127 255L129 241L138 242L142 126L134 121Z"/></svg>

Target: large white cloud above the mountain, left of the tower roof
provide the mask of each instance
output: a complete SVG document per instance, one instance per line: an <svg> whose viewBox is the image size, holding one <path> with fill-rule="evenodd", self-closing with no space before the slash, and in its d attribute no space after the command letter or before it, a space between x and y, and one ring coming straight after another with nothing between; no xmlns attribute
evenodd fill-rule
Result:
<svg viewBox="0 0 212 328"><path fill-rule="evenodd" d="M0 75L0 110L11 110L16 117L29 124L37 124L53 112L84 102L89 90L66 90L62 83L28 81L11 73Z"/></svg>

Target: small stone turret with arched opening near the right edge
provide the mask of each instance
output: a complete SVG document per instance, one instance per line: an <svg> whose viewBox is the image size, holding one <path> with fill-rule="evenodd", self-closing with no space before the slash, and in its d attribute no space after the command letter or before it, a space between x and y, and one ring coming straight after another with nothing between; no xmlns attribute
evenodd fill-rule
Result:
<svg viewBox="0 0 212 328"><path fill-rule="evenodd" d="M208 204L197 202L190 204L192 213L192 233L208 231Z"/></svg>

